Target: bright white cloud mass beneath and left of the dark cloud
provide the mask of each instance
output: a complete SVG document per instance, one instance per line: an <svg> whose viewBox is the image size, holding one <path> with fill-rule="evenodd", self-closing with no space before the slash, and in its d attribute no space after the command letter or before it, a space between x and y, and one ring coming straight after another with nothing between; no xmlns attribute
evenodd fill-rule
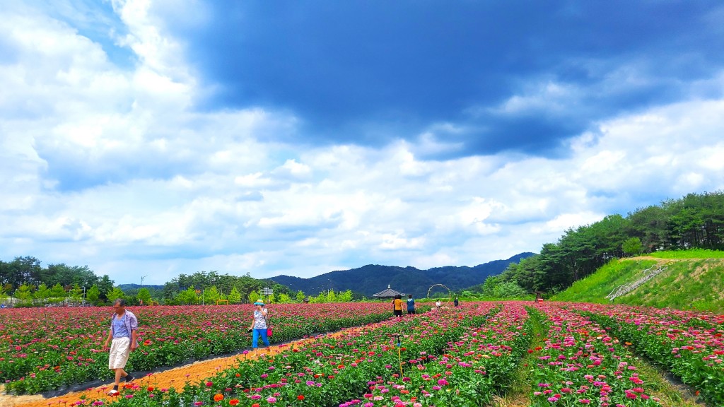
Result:
<svg viewBox="0 0 724 407"><path fill-rule="evenodd" d="M206 24L205 4L111 6L108 20L122 26L106 32L37 9L0 21L0 47L12 50L0 57L0 259L88 264L117 282L153 271L155 284L211 269L473 266L607 214L724 189L722 72L676 101L587 121L557 156L460 154L474 142L462 139L471 115L565 120L576 104L589 114L592 88L555 75L412 136L309 143L316 130L299 112L203 105L219 84L171 23ZM109 56L109 38L132 64ZM647 81L615 72L609 85Z"/></svg>

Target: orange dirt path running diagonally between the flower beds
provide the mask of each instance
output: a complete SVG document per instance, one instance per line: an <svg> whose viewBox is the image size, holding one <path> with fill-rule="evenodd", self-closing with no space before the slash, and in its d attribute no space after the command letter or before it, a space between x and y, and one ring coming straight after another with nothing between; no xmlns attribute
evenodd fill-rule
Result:
<svg viewBox="0 0 724 407"><path fill-rule="evenodd" d="M360 327L351 327L346 330L341 330L328 335L320 335L317 337L311 337L303 340L296 340L292 343L285 343L281 345L271 345L269 349L260 349L259 353L266 353L266 355L274 355L281 353L288 348L297 348L301 345L308 343L313 340L317 340L320 337L337 337L349 335L353 332L360 330ZM164 370L163 372L156 372L146 375L145 377L137 377L133 380L133 385L139 387L161 387L169 388L175 387L176 390L181 391L183 385L186 382L198 382L206 377L211 377L216 372L228 369L232 366L236 366L239 361L252 358L252 353L243 354L240 353L234 356L228 356L224 358L214 358L206 361L198 361L193 364L186 366L180 366L174 369ZM262 356L264 357L264 356ZM108 391L111 390L113 382L109 382L106 385L93 387L88 390L82 390L77 392L67 393L66 395L54 397L54 398L43 398L42 395L7 395L4 393L4 386L0 387L0 406L2 407L70 407L74 406L77 401L80 400L96 400L98 398L109 399L107 395Z"/></svg>

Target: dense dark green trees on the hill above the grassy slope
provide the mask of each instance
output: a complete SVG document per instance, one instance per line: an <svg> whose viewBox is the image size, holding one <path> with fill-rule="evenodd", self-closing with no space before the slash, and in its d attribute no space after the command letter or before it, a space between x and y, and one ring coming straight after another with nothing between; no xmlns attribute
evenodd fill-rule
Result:
<svg viewBox="0 0 724 407"><path fill-rule="evenodd" d="M536 256L510 264L494 284L514 282L528 292L556 292L610 259L661 250L724 249L724 192L690 193L660 205L610 215L566 230ZM494 285L491 284L491 285Z"/></svg>

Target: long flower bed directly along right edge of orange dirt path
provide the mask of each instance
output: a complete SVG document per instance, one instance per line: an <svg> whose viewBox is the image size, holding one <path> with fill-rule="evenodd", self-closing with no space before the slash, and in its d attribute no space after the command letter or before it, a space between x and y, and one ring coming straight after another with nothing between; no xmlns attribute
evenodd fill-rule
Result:
<svg viewBox="0 0 724 407"><path fill-rule="evenodd" d="M188 383L182 393L156 387L125 389L114 404L336 407L344 400L361 400L370 391L371 382L404 383L400 370L409 379L406 372L419 372L418 366L433 366L442 358L449 361L450 356L440 355L450 351L450 344L466 337L471 327L483 325L492 312L492 304L485 303L393 318L344 335L319 338L255 362L241 361L239 366L203 382ZM387 393L383 390L378 389L381 394ZM401 390L405 389L396 390L404 394ZM89 400L88 404L105 401Z"/></svg>

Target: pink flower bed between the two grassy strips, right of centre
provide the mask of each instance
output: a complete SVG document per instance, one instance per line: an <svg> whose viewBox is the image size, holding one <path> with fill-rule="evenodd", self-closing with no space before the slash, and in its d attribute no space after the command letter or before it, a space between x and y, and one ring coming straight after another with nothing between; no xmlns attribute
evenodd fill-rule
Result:
<svg viewBox="0 0 724 407"><path fill-rule="evenodd" d="M660 406L625 344L559 304L537 309L549 330L545 345L530 351L538 358L531 406Z"/></svg>

